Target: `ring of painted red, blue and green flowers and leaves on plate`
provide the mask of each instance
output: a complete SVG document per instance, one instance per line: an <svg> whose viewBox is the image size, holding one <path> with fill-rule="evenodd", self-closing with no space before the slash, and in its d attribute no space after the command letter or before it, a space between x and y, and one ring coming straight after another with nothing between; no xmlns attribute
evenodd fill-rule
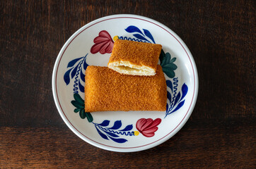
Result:
<svg viewBox="0 0 256 169"><path fill-rule="evenodd" d="M95 37L93 40L94 44L91 47L91 54L96 54L98 52L100 54L110 54L114 41L117 38L136 42L156 43L149 30L140 30L139 27L134 25L130 25L124 30L131 34L131 37L116 35L112 38L106 30L100 31L98 37ZM171 113L178 111L185 104L185 96L188 91L187 84L183 83L181 91L178 92L178 77L175 76L175 70L178 68L178 66L175 64L176 58L171 58L170 53L165 53L162 49L159 59L161 61L163 73L165 73L167 76L166 84L168 87L165 115L163 115L163 117L156 118L155 120L152 118L141 118L137 120L135 126L136 130L138 131L135 129L133 130L133 124L127 124L124 125L125 127L122 127L122 120L116 120L112 127L109 126L110 120L103 120L103 122L100 124L94 123L91 113L84 111L84 100L79 95L79 91L84 93L84 72L88 66L86 63L88 54L69 61L66 73L64 73L64 82L66 85L69 85L71 80L74 80L74 100L71 101L71 104L75 107L74 113L79 112L79 116L82 119L86 118L89 123L95 125L95 130L103 139L112 140L113 142L123 144L128 142L129 137L137 136L139 133L144 135L144 137L153 137L155 132L158 130L158 125L161 124L161 118L166 118Z"/></svg>

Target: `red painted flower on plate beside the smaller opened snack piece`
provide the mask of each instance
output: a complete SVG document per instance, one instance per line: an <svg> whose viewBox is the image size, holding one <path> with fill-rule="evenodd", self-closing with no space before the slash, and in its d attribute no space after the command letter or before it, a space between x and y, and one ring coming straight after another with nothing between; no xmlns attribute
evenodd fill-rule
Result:
<svg viewBox="0 0 256 169"><path fill-rule="evenodd" d="M110 54L112 52L114 41L107 31L100 31L99 36L95 37L93 42L95 44L91 47L92 54L96 54L97 52L100 52L100 54Z"/></svg>

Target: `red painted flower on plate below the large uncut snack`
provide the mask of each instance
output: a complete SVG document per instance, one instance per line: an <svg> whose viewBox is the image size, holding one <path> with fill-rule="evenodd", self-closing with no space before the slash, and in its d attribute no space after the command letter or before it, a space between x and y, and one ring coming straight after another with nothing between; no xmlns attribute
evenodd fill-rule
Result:
<svg viewBox="0 0 256 169"><path fill-rule="evenodd" d="M156 130L158 130L158 127L156 126L158 126L160 123L160 118L156 118L156 120L152 120L152 118L141 118L137 121L136 128L145 137L153 137Z"/></svg>

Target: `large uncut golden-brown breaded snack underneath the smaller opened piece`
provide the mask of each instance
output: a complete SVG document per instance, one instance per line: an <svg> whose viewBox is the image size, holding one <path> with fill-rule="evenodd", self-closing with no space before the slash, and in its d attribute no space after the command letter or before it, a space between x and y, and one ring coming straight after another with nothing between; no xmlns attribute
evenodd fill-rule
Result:
<svg viewBox="0 0 256 169"><path fill-rule="evenodd" d="M85 111L165 111L167 90L161 65L154 76L123 75L107 67L86 69Z"/></svg>

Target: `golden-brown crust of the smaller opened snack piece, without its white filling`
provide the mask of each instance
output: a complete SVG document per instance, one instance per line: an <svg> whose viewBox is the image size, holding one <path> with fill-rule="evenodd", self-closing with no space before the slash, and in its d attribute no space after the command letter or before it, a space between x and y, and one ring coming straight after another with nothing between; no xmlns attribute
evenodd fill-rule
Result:
<svg viewBox="0 0 256 169"><path fill-rule="evenodd" d="M161 49L161 44L117 39L114 43L109 63L128 61L133 65L145 65L156 71Z"/></svg>

